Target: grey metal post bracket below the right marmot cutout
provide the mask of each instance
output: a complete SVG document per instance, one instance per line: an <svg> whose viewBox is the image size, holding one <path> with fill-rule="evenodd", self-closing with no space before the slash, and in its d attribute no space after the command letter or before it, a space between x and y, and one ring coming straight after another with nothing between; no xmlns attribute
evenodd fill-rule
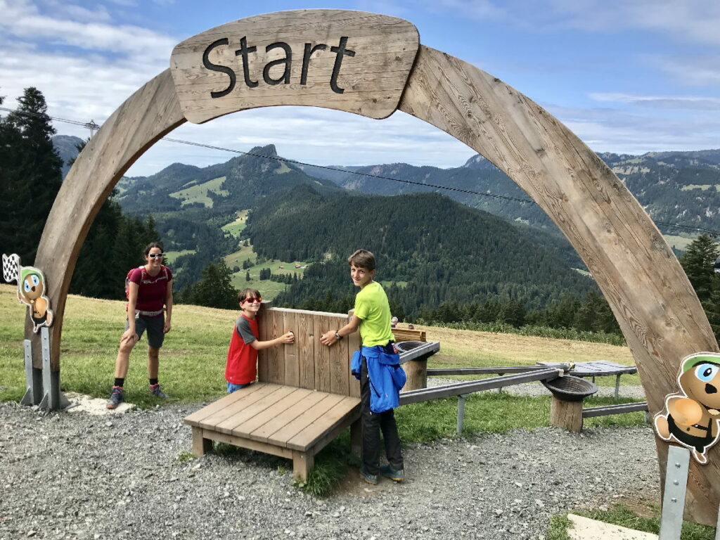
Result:
<svg viewBox="0 0 720 540"><path fill-rule="evenodd" d="M667 449L665 495L662 498L660 536L658 540L679 540L685 513L685 492L688 488L690 451L680 446Z"/></svg>

